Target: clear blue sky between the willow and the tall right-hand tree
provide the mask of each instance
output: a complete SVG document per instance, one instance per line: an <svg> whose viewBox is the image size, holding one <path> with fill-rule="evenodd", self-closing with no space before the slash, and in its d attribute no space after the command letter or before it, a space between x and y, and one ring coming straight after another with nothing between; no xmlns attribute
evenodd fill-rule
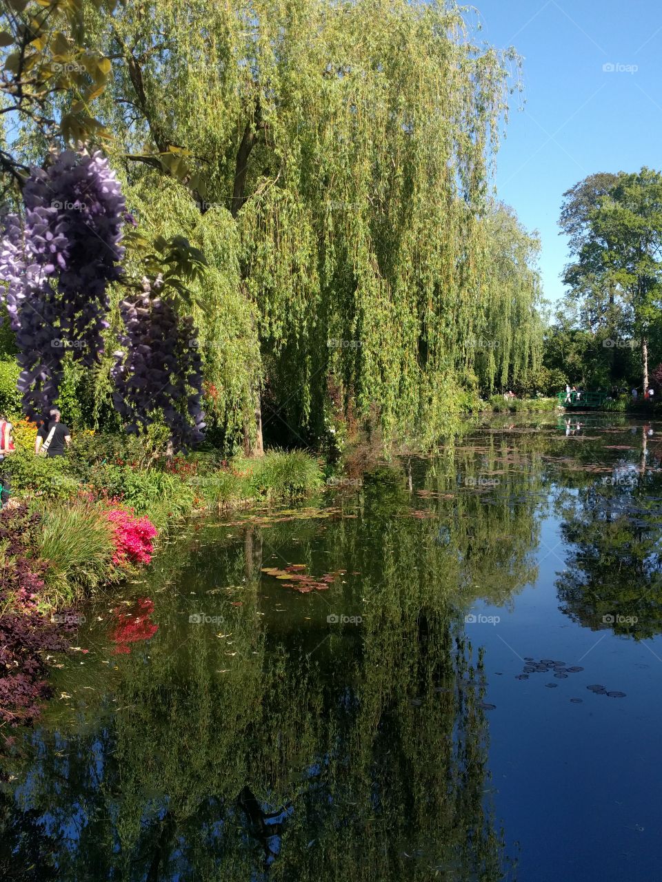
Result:
<svg viewBox="0 0 662 882"><path fill-rule="evenodd" d="M662 169L662 4L475 3L483 39L523 56L525 103L517 110L513 96L496 184L524 226L538 230L545 297L556 301L568 255L558 228L563 193L595 172Z"/></svg>

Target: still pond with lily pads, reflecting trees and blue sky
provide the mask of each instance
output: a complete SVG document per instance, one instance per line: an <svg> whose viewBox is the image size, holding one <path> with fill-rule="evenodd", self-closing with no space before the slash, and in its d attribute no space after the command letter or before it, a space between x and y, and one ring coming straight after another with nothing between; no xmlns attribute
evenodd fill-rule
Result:
<svg viewBox="0 0 662 882"><path fill-rule="evenodd" d="M14 732L5 878L659 878L661 458L501 417L186 525Z"/></svg>

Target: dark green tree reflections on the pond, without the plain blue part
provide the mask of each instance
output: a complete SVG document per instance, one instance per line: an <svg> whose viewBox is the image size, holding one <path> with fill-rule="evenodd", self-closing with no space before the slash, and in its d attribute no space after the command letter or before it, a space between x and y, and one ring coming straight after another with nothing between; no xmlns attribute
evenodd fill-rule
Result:
<svg viewBox="0 0 662 882"><path fill-rule="evenodd" d="M0 872L515 878L518 831L500 829L488 770L485 654L464 617L536 582L555 513L568 617L658 632L656 453L648 429L636 447L625 435L493 424L305 517L191 527L135 594L89 610L89 653L5 751ZM274 573L293 564L327 589L284 587ZM578 676L523 663L523 679Z"/></svg>

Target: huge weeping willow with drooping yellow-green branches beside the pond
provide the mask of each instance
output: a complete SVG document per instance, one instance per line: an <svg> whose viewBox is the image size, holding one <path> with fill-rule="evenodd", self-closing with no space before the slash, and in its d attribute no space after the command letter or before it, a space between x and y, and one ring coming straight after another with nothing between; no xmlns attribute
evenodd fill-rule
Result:
<svg viewBox="0 0 662 882"><path fill-rule="evenodd" d="M196 318L229 437L260 451L261 396L266 421L315 437L331 386L387 437L433 437L477 376L530 360L529 270L486 207L513 52L445 4L97 6L129 203L206 248ZM482 365L467 341L488 333Z"/></svg>

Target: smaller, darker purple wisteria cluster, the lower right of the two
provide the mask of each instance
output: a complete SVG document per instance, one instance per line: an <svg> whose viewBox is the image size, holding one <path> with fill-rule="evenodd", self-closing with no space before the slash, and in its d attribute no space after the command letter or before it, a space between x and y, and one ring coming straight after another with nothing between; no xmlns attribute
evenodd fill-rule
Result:
<svg viewBox="0 0 662 882"><path fill-rule="evenodd" d="M179 318L171 300L158 295L158 283L155 294L143 284L142 295L120 303L127 351L115 353L113 402L133 433L160 408L173 444L184 450L199 443L205 428L197 331L192 318Z"/></svg>

